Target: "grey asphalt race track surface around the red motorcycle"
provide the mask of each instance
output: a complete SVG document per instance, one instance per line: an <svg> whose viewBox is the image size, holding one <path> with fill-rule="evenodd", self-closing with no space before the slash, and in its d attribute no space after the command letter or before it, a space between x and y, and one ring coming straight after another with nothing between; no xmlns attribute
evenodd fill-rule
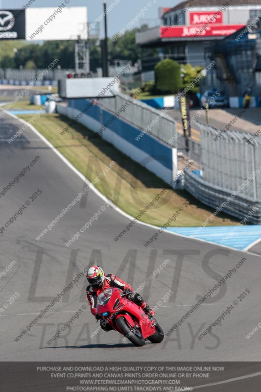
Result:
<svg viewBox="0 0 261 392"><path fill-rule="evenodd" d="M93 191L89 191L86 203L73 206L37 241L36 236L86 184L31 129L24 130L23 136L9 145L6 139L20 127L21 122L10 116L4 115L0 119L0 192L36 156L41 158L19 183L4 196L0 195L0 228L26 201L30 202L23 214L0 235L0 272L11 261L16 261L6 276L0 275L1 361L261 361L261 331L246 338L261 322L261 256L251 253L254 250L261 253L259 245L243 253L163 233L154 246L146 248L143 243L155 229L142 224L136 224L115 242L115 236L129 219L107 206ZM36 192L40 194L37 190L42 191L41 195L30 199ZM104 211L92 227L78 241L66 246L65 243L102 206ZM114 331L99 331L91 338L98 324L86 303L85 276L80 277L30 331L15 341L40 311L91 262L100 262L105 272L118 274L136 289L169 259L151 285L141 292L151 307L158 306L156 318L167 333L173 323L243 257L246 261L214 292L210 302L198 307L178 331L174 330L158 345L147 343L136 348L122 342L121 336ZM246 290L250 293L238 299ZM18 296L15 293L19 297L8 301L14 295ZM233 301L237 301L237 305L221 325L219 323L210 334L198 340L196 336ZM4 304L8 306L3 307ZM47 341L79 309L81 315L73 325L54 343L48 344ZM251 367L247 369L249 373ZM244 374L242 369L239 375Z"/></svg>

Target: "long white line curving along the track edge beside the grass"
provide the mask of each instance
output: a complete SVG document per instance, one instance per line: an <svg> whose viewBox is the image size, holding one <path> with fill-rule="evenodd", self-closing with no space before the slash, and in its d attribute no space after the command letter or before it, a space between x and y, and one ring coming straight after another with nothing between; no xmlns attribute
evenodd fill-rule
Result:
<svg viewBox="0 0 261 392"><path fill-rule="evenodd" d="M85 184L87 184L89 187L90 187L90 189L93 191L93 192L95 192L95 194L96 195L98 195L103 201L105 201L106 203L108 203L112 208L114 208L117 212L119 212L119 214L121 214L121 215L123 215L125 218L128 218L129 220L133 220L134 219L134 217L132 217L131 215L129 215L129 214L127 214L126 212L124 212L124 211L122 211L117 205L115 205L114 203L112 203L112 201L111 200L109 200L109 199L107 199L107 197L106 196L104 196L102 193L100 193L96 188L95 188L95 186L93 185L93 183L92 182L90 182L81 172L79 172L77 169L75 169L74 168L74 166L72 166L72 164L34 127L34 126L32 126L31 124L29 124L29 123L26 123L26 121L24 121L24 120L22 120L22 119L20 119L19 117L17 117L16 115L14 115L14 114L12 114L12 113L6 113L8 116L11 116L11 117L13 117L15 120L18 120L18 121L20 121L21 123L23 123L23 124L26 124L40 139L42 139L43 140L43 142L45 142L46 144L47 144L47 146L48 147L50 147L52 150L53 150L53 152L55 152L55 154L56 155L58 155L59 156L59 158L75 173L75 174L77 174L84 182L85 182ZM147 227L150 227L150 228L153 228L153 229L156 229L156 230L158 230L159 229L159 227L158 226L154 226L154 225L152 225L152 224L149 224L149 223L145 223L145 222L142 222L142 221L137 221L137 223L139 223L139 224L142 224L142 225L144 225L144 226L147 226ZM240 249L235 249L235 248L233 248L233 247L230 247L230 246L226 246L226 245L219 245L219 244L216 244L216 243L213 243L213 242L210 242L210 241L206 241L206 240L202 240L201 238L191 238L191 237L189 237L189 236L185 236L185 235L183 235L183 234L177 234L177 233L173 233L173 232L171 232L171 231L168 231L168 230L165 230L164 231L165 233L168 233L168 234L171 234L171 235L175 235L176 237L182 237L182 238L186 238L187 240L191 240L191 241L200 241L200 242L204 242L205 244L213 244L213 245L216 245L216 246L220 246L220 247L225 247L225 248L228 248L228 249L231 249L231 250L234 250L234 251L237 251L237 252L244 252L243 250L240 250Z"/></svg>

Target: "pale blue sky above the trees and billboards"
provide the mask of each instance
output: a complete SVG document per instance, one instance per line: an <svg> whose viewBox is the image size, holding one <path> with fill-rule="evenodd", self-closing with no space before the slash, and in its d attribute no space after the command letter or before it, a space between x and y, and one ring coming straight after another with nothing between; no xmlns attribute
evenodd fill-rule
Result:
<svg viewBox="0 0 261 392"><path fill-rule="evenodd" d="M107 0L107 6L111 5L115 0ZM118 2L119 0L117 0ZM22 8L26 4L27 0L0 0L0 9L14 9ZM31 7L54 7L60 5L63 0L35 0ZM151 23L153 19L158 18L159 7L174 7L174 5L181 2L181 0L120 0L115 5L113 10L108 13L108 35L112 37L114 34L124 28L148 3L147 11L145 11L142 18L138 18L138 21L134 27L140 27L141 21L146 22L146 19L150 19ZM88 8L88 20L93 22L103 12L103 0L70 0L70 5L73 6L87 6ZM155 21L156 22L156 21ZM100 33L103 36L103 21L100 23Z"/></svg>

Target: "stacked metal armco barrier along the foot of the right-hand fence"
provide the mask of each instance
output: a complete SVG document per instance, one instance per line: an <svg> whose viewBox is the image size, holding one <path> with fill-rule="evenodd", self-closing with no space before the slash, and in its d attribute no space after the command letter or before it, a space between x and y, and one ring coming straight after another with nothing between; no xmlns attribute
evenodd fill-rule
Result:
<svg viewBox="0 0 261 392"><path fill-rule="evenodd" d="M232 194L228 190L214 187L191 171L185 172L185 189L196 199L214 209ZM222 211L238 219L244 219L247 214L251 213L252 217L247 220L247 223L261 224L261 202L259 200L237 195L234 200L226 204Z"/></svg>

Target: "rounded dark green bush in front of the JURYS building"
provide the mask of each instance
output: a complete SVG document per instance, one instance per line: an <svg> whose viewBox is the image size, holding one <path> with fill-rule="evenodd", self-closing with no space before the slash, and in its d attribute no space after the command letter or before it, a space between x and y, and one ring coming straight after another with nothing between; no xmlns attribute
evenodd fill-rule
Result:
<svg viewBox="0 0 261 392"><path fill-rule="evenodd" d="M180 65L165 59L155 66L155 89L157 94L176 94L182 86Z"/></svg>

